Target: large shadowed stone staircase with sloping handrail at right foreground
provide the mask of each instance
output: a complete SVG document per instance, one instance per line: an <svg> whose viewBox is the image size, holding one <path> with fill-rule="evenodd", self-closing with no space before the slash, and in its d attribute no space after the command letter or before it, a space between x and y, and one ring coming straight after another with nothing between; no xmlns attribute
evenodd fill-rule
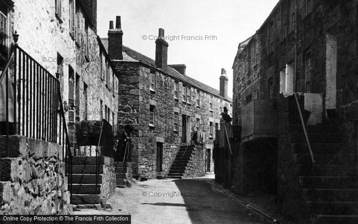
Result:
<svg viewBox="0 0 358 224"><path fill-rule="evenodd" d="M311 223L358 223L358 175L353 152L341 148L338 125L307 125L306 129L316 160L314 177L303 131L290 133L290 142L307 209L313 213Z"/></svg>

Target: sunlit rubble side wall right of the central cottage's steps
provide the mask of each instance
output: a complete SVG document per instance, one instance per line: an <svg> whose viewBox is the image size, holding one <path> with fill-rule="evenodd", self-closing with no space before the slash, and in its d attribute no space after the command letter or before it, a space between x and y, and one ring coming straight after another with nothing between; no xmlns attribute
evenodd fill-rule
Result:
<svg viewBox="0 0 358 224"><path fill-rule="evenodd" d="M194 148L190 161L187 165L187 170L183 175L184 178L198 177L205 175L205 149L198 146Z"/></svg>

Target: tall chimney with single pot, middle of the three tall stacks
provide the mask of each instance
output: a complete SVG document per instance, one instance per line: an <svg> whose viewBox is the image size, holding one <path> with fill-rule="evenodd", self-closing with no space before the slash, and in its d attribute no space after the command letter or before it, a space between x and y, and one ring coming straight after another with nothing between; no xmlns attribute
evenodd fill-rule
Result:
<svg viewBox="0 0 358 224"><path fill-rule="evenodd" d="M155 40L155 66L158 68L167 68L168 46L169 44L164 39L164 30L160 28L158 38Z"/></svg>

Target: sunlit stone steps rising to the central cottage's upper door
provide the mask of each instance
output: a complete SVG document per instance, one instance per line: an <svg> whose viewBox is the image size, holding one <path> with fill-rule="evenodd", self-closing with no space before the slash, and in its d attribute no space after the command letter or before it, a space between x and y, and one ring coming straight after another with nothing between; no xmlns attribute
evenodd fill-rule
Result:
<svg viewBox="0 0 358 224"><path fill-rule="evenodd" d="M169 173L167 175L168 178L183 178L194 149L194 145L180 147L178 153L176 154L176 158L170 167Z"/></svg>

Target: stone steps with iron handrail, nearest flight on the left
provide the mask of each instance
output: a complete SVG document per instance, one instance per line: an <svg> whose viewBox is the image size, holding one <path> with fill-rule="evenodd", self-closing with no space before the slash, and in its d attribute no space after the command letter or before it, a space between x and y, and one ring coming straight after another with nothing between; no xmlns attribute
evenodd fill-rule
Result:
<svg viewBox="0 0 358 224"><path fill-rule="evenodd" d="M101 158L103 164L104 158ZM72 175L71 204L77 208L99 208L101 203L101 183L103 165L99 165L98 185L96 185L96 157L74 156ZM69 185L70 190L70 185Z"/></svg>

